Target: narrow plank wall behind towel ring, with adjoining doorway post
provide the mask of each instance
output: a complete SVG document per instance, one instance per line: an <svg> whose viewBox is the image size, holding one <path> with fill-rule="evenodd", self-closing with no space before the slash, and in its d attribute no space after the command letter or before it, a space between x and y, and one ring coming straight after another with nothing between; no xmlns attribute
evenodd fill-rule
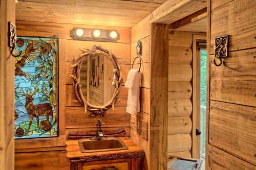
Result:
<svg viewBox="0 0 256 170"><path fill-rule="evenodd" d="M150 16L134 26L131 62L136 57L137 40L142 43L141 108L140 113L131 115L131 138L145 151L143 169L160 170L167 166L167 115L164 113L167 112L168 27L151 23ZM139 60L134 68L139 68ZM137 133L137 122L141 124L141 134Z"/></svg>

